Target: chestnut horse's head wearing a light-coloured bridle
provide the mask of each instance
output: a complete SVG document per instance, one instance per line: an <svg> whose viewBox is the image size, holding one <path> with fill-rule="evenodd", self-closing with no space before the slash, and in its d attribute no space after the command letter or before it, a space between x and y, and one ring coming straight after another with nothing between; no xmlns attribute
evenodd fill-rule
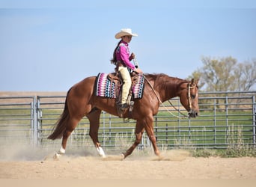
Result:
<svg viewBox="0 0 256 187"><path fill-rule="evenodd" d="M198 80L192 79L180 85L180 102L189 113L189 117L197 117L198 107Z"/></svg>

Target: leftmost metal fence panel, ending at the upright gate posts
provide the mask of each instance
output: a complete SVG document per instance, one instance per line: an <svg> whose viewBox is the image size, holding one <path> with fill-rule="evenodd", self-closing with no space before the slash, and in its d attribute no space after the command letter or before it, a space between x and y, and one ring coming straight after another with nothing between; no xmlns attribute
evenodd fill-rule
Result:
<svg viewBox="0 0 256 187"><path fill-rule="evenodd" d="M0 145L37 144L34 96L0 97Z"/></svg>

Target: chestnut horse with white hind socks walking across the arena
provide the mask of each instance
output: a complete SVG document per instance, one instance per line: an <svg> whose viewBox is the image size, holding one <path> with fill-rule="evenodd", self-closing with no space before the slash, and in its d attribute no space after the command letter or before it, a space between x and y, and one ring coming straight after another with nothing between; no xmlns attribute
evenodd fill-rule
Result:
<svg viewBox="0 0 256 187"><path fill-rule="evenodd" d="M124 113L124 117L136 120L135 126L135 142L131 147L122 153L126 158L141 142L144 130L153 145L156 156L160 156L156 146L156 138L153 132L153 115L159 110L159 105L168 99L179 96L180 102L189 112L189 117L197 117L198 108L198 81L186 81L179 78L167 76L165 74L146 74L144 75L144 94L141 99L135 99L131 114ZM88 117L90 121L89 135L94 142L97 152L100 156L105 157L105 153L100 147L98 141L98 129L100 126L101 111L118 116L115 99L110 99L94 95L94 84L96 76L83 79L81 82L73 85L67 92L64 111L58 120L55 130L49 135L49 139L55 140L62 138L61 149L55 156L65 153L67 138L76 128L77 123L82 117Z"/></svg>

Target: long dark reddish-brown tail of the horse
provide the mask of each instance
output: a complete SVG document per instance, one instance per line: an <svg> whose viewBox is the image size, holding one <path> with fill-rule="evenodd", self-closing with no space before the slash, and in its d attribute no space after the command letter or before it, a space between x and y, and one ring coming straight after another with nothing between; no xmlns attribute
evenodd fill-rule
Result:
<svg viewBox="0 0 256 187"><path fill-rule="evenodd" d="M70 90L71 90L71 88L70 88ZM70 90L67 91L67 96L68 96L68 93L70 93ZM66 130L67 121L70 118L70 112L69 112L68 106L67 106L67 96L66 96L66 100L65 100L64 111L62 112L61 117L59 118L57 123L55 123L54 131L52 132L51 135L48 136L48 139L50 139L50 140L55 140L55 139L61 138L64 131Z"/></svg>

